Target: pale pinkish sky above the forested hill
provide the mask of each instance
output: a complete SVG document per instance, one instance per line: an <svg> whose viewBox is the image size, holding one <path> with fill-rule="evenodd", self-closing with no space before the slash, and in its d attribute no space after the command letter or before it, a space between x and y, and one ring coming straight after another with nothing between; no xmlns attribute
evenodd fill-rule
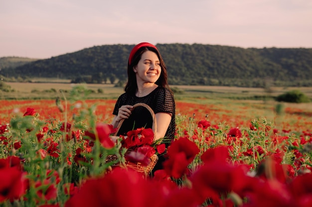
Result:
<svg viewBox="0 0 312 207"><path fill-rule="evenodd" d="M312 48L312 0L0 0L0 57L140 42Z"/></svg>

